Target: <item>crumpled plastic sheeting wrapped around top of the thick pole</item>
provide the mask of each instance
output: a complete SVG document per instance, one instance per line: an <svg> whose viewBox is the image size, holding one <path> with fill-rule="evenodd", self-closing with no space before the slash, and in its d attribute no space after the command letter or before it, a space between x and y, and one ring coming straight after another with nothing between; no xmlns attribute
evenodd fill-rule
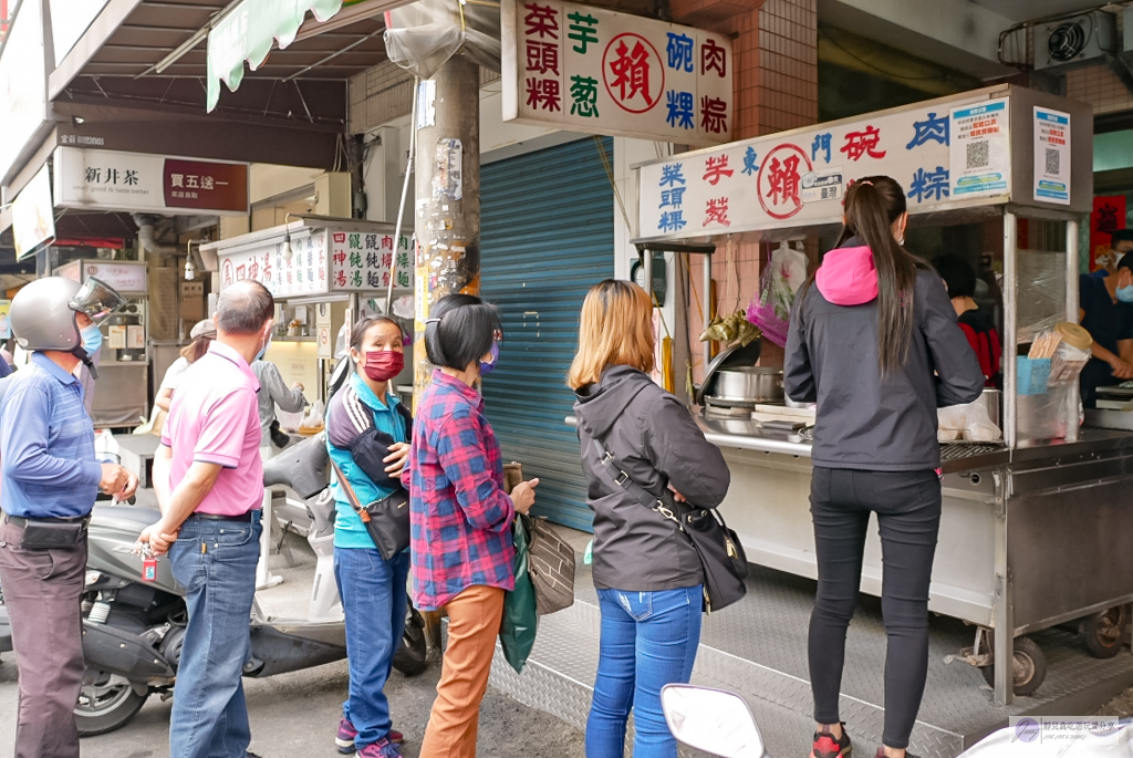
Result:
<svg viewBox="0 0 1133 758"><path fill-rule="evenodd" d="M385 14L389 59L420 79L462 53L483 68L501 70L500 7L477 0L417 0Z"/></svg>

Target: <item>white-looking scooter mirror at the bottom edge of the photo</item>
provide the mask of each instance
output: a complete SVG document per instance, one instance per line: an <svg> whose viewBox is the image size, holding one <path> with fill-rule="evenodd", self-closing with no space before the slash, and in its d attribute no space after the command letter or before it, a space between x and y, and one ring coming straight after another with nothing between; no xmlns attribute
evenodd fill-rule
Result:
<svg viewBox="0 0 1133 758"><path fill-rule="evenodd" d="M666 684L661 707L678 741L721 758L764 758L764 739L739 695L692 684Z"/></svg>

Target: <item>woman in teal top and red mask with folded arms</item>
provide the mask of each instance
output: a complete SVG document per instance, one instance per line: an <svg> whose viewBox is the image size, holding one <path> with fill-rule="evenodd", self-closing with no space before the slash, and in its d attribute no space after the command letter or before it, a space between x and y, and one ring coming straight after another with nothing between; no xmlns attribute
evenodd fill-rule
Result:
<svg viewBox="0 0 1133 758"><path fill-rule="evenodd" d="M357 371L331 399L326 444L358 502L367 504L401 488L409 454L412 418L390 387L404 366L401 326L390 318L361 320L350 333L350 358ZM335 744L360 758L397 758L401 734L392 729L384 688L406 623L409 553L384 560L337 477L332 492L334 578L350 665Z"/></svg>

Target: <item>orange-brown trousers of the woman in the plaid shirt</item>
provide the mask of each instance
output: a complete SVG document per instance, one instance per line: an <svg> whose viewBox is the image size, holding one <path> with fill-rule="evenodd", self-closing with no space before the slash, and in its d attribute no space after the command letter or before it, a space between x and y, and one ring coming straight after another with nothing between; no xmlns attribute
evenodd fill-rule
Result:
<svg viewBox="0 0 1133 758"><path fill-rule="evenodd" d="M475 758L480 701L503 620L504 590L469 587L444 606L449 647L420 758Z"/></svg>

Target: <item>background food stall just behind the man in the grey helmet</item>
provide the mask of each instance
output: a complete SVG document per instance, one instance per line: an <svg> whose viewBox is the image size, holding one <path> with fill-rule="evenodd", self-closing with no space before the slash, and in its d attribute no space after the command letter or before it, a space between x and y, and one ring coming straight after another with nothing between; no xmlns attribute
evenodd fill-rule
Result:
<svg viewBox="0 0 1133 758"><path fill-rule="evenodd" d="M99 427L136 426L150 415L150 318L146 264L102 258L71 261L56 269L79 284L91 276L118 290L126 305L102 324L99 381L92 412Z"/></svg>

